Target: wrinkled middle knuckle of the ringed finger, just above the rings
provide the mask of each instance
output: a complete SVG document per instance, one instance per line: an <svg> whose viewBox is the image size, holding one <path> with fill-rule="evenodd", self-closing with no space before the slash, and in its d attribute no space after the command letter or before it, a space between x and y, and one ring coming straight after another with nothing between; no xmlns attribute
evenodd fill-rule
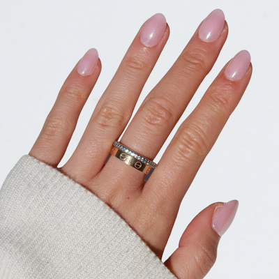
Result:
<svg viewBox="0 0 279 279"><path fill-rule="evenodd" d="M166 128L172 125L174 116L170 107L173 106L169 100L163 97L151 98L142 111L144 114L142 123L146 126L145 128L153 130L154 126Z"/></svg>

